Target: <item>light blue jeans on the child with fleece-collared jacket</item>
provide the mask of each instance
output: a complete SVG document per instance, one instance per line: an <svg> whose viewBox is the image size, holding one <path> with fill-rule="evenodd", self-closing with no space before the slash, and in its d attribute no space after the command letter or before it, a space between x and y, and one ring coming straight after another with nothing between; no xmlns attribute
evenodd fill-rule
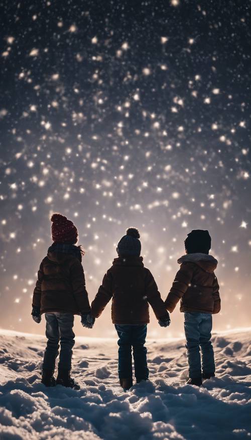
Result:
<svg viewBox="0 0 251 440"><path fill-rule="evenodd" d="M212 315L211 313L185 312L186 349L191 379L201 377L202 373L214 373L214 354L211 339Z"/></svg>

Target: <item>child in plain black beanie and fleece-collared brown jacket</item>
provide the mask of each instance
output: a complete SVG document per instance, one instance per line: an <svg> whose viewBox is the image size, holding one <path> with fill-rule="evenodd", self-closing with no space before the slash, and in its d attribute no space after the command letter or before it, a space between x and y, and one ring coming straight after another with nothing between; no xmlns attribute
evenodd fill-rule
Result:
<svg viewBox="0 0 251 440"><path fill-rule="evenodd" d="M188 384L202 385L203 379L215 376L213 347L210 341L212 313L220 311L219 285L214 275L217 260L208 255L211 237L208 231L193 230L185 240L186 254L165 301L172 312L181 300L185 315L186 348L189 364ZM200 351L202 354L202 374Z"/></svg>

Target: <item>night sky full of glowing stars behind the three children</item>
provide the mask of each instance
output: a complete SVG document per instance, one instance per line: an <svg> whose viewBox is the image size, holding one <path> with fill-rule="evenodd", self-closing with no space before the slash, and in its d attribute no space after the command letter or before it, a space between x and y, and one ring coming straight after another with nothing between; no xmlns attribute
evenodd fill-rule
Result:
<svg viewBox="0 0 251 440"><path fill-rule="evenodd" d="M2 3L0 325L32 321L50 216L76 224L93 299L129 226L165 299L191 229L208 229L222 311L250 325L249 1ZM178 307L172 326L183 332ZM110 305L92 333L114 336Z"/></svg>

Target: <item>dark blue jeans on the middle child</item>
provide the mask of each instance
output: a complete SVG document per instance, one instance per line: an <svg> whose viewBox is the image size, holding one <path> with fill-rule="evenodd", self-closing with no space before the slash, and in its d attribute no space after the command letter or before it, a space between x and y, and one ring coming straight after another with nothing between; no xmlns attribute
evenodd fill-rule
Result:
<svg viewBox="0 0 251 440"><path fill-rule="evenodd" d="M147 325L118 325L115 324L118 334L118 377L129 379L133 377L132 347L134 355L134 369L136 379L148 379L147 348L144 347L147 336Z"/></svg>

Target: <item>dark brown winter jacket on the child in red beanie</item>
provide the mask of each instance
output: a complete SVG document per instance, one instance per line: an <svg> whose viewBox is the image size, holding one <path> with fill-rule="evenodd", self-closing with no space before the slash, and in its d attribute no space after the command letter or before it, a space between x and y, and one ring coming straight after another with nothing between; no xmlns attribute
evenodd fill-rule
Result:
<svg viewBox="0 0 251 440"><path fill-rule="evenodd" d="M69 253L48 251L38 271L32 305L40 307L41 314L89 313L90 305L80 260Z"/></svg>

